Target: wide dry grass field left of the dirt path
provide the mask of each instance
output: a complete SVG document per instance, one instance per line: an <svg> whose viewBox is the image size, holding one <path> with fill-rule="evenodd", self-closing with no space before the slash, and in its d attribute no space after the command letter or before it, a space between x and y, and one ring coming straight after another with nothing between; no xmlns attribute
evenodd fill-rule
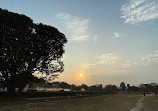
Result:
<svg viewBox="0 0 158 111"><path fill-rule="evenodd" d="M85 98L71 98L39 102L37 100L20 100L1 102L0 111L128 111L135 107L135 104L142 95L104 95ZM38 102L37 102L38 101Z"/></svg>

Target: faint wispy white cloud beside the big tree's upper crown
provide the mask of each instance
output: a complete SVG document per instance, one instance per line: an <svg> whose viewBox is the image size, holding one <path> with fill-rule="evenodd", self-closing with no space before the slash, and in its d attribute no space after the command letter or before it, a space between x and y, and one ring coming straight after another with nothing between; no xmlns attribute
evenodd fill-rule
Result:
<svg viewBox="0 0 158 111"><path fill-rule="evenodd" d="M63 28L70 40L78 42L89 38L89 19L83 19L69 13L59 13L56 17L62 21Z"/></svg>

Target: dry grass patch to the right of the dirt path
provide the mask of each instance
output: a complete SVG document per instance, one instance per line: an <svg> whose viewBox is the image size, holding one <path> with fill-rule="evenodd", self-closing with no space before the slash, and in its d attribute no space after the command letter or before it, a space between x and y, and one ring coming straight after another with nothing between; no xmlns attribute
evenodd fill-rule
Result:
<svg viewBox="0 0 158 111"><path fill-rule="evenodd" d="M143 100L143 107L141 111L158 111L158 97L153 96L146 96Z"/></svg>

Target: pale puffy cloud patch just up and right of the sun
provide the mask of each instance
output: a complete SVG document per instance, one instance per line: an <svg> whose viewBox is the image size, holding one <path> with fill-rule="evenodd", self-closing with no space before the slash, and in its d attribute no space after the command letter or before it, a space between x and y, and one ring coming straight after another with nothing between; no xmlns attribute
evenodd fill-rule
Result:
<svg viewBox="0 0 158 111"><path fill-rule="evenodd" d="M95 57L98 59L98 64L116 64L118 63L118 56L113 54L102 54Z"/></svg>

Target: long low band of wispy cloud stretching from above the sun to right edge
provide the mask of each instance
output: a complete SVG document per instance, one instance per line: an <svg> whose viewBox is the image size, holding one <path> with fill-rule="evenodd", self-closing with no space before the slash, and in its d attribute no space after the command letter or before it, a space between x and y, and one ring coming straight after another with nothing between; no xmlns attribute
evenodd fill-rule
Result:
<svg viewBox="0 0 158 111"><path fill-rule="evenodd" d="M126 71L126 69L128 68L138 67L138 66L148 66L154 63L158 63L158 50L155 50L145 56L135 57L133 59L126 59L123 61L120 60L121 58L119 58L115 54L101 54L95 56L94 58L96 59L95 63L83 63L80 65L80 67L83 69L88 69L94 66L97 67L97 71L99 72L103 70L102 67L114 71Z"/></svg>

